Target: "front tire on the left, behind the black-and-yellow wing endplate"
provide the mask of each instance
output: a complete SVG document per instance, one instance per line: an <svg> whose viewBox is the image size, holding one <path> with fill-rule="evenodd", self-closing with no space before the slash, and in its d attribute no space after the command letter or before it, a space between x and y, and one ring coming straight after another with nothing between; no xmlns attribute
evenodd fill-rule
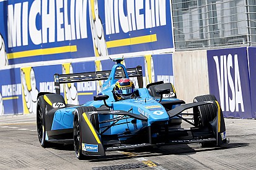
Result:
<svg viewBox="0 0 256 170"><path fill-rule="evenodd" d="M81 117L83 113L89 112L89 111L97 111L95 107L87 106L87 107L78 107L76 108L76 111L74 111L74 127L73 127L73 138L74 138L74 151L76 153L76 157L78 159L86 159L86 156L82 154L82 132L81 132ZM99 119L96 116L94 117L94 121L90 120L92 122L92 125L94 125L95 129L97 130L97 127L99 127Z"/></svg>

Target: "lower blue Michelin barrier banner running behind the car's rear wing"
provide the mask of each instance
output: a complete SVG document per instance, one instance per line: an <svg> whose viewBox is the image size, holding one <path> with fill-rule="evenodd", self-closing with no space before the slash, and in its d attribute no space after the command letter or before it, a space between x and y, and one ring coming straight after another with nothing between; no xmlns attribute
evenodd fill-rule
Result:
<svg viewBox="0 0 256 170"><path fill-rule="evenodd" d="M57 64L51 66L22 67L0 70L0 114L35 114L39 92L55 93L53 75L77 72L111 70L111 59ZM125 58L126 68L142 66L144 87L148 83L161 81L174 83L172 54L148 55ZM164 68L164 69L163 69ZM136 78L131 79L138 88ZM92 100L101 90L101 81L66 83L61 85L61 95L68 104L84 104Z"/></svg>

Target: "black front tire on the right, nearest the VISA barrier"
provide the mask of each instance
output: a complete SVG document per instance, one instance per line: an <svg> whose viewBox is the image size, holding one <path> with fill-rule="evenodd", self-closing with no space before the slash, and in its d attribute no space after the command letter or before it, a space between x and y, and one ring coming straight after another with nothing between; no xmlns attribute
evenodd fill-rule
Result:
<svg viewBox="0 0 256 170"><path fill-rule="evenodd" d="M200 101L216 101L216 97L214 95L203 95L194 98L194 102ZM217 116L216 109L214 104L205 104L193 108L195 127L205 127L213 121L214 117Z"/></svg>

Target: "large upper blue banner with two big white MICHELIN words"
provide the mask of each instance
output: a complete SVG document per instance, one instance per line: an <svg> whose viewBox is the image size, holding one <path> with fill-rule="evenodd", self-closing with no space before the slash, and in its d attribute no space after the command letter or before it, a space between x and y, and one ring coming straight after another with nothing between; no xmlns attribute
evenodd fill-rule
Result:
<svg viewBox="0 0 256 170"><path fill-rule="evenodd" d="M1 66L172 52L171 7L170 0L1 0Z"/></svg>

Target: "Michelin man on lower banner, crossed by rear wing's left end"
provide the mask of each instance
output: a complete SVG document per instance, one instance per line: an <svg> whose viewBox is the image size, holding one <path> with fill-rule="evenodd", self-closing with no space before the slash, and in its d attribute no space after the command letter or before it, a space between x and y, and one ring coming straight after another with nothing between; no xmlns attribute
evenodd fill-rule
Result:
<svg viewBox="0 0 256 170"><path fill-rule="evenodd" d="M73 67L71 63L62 65L62 74L72 74ZM65 83L64 85L64 99L67 104L79 104L77 89L74 83Z"/></svg>

